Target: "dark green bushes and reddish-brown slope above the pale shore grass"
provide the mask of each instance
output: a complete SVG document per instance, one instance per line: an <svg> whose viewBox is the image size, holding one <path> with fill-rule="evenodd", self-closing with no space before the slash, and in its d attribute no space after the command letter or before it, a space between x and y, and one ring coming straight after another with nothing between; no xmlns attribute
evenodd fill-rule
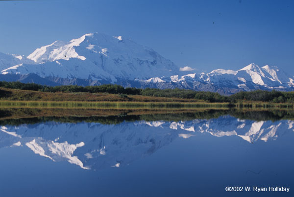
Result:
<svg viewBox="0 0 294 197"><path fill-rule="evenodd" d="M133 102L207 102L207 103L287 103L294 104L294 92L256 90L230 96L185 89L124 88L100 86L47 86L34 83L0 81L0 100L13 101L133 101Z"/></svg>

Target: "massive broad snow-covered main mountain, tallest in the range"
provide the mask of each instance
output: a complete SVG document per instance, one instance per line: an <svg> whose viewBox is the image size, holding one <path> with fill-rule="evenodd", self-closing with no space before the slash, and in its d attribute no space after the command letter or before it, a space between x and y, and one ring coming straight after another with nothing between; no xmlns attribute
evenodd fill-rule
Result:
<svg viewBox="0 0 294 197"><path fill-rule="evenodd" d="M157 52L122 36L85 34L70 42L55 41L27 56L36 64L18 64L2 74L107 80L148 79L175 74L178 67Z"/></svg>

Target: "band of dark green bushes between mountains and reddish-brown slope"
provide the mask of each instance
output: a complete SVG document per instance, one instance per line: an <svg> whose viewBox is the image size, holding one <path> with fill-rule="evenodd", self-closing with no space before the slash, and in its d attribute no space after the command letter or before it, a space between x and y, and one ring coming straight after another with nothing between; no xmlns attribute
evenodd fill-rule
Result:
<svg viewBox="0 0 294 197"><path fill-rule="evenodd" d="M294 92L281 92L281 91L265 91L256 90L250 92L239 92L231 96L222 96L219 93L203 92L185 89L155 89L155 88L124 88L116 84L105 84L100 86L77 86L77 85L63 85L63 86L47 86L35 83L21 83L19 81L6 82L0 81L0 87L21 90L33 90L41 92L86 92L86 93L109 93L120 95L142 95L151 97L166 97L166 98L193 98L203 100L206 102L231 102L238 101L264 101L264 102L290 102L294 103Z"/></svg>

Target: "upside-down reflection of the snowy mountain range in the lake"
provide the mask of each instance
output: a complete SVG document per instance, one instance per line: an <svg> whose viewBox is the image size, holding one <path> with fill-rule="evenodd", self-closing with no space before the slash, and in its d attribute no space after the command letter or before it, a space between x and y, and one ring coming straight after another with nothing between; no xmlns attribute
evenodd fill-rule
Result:
<svg viewBox="0 0 294 197"><path fill-rule="evenodd" d="M294 134L294 121L251 121L231 116L192 121L135 121L120 124L45 122L0 127L0 148L23 146L53 161L83 169L122 167L178 138L208 134L249 143Z"/></svg>

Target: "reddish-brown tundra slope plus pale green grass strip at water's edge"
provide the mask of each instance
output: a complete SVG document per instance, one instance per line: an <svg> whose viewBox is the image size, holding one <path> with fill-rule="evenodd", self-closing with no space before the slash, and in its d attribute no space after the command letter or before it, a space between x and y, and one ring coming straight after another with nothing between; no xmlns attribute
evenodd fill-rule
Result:
<svg viewBox="0 0 294 197"><path fill-rule="evenodd" d="M238 100L236 102L208 102L195 98L167 98L142 95L120 95L85 92L41 92L0 88L0 107L49 108L193 108L193 107L253 107L293 108L292 102L262 102Z"/></svg>

